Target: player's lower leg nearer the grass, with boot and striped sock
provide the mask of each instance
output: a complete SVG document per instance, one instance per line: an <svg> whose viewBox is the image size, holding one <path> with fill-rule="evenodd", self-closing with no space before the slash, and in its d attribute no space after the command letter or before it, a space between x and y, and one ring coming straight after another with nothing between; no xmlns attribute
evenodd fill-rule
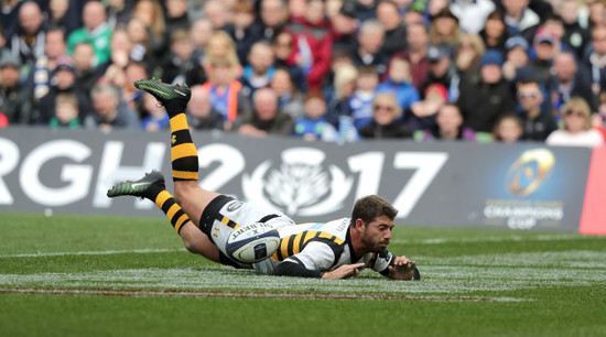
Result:
<svg viewBox="0 0 606 337"><path fill-rule="evenodd" d="M220 261L219 249L190 220L181 205L166 191L162 173L153 171L139 181L119 183L107 192L107 196L110 198L122 195L147 198L153 202L166 215L188 251L201 254L210 261Z"/></svg>

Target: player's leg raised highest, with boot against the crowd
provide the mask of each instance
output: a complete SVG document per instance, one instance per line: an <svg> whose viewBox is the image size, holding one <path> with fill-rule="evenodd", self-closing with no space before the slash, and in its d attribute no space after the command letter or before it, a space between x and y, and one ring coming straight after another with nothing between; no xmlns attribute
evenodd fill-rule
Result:
<svg viewBox="0 0 606 337"><path fill-rule="evenodd" d="M185 109L192 95L186 86L162 81L138 80L134 86L150 93L169 112L171 118L171 165L176 200L199 227L199 218L208 204L219 194L203 189L198 181L198 153L192 140Z"/></svg>

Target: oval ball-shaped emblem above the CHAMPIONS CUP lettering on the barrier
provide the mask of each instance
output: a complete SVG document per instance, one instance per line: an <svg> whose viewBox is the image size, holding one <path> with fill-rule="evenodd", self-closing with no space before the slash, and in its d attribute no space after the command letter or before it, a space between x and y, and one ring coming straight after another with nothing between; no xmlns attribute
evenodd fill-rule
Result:
<svg viewBox="0 0 606 337"><path fill-rule="evenodd" d="M507 172L507 189L519 197L530 195L541 186L554 164L555 157L547 149L526 151Z"/></svg>

